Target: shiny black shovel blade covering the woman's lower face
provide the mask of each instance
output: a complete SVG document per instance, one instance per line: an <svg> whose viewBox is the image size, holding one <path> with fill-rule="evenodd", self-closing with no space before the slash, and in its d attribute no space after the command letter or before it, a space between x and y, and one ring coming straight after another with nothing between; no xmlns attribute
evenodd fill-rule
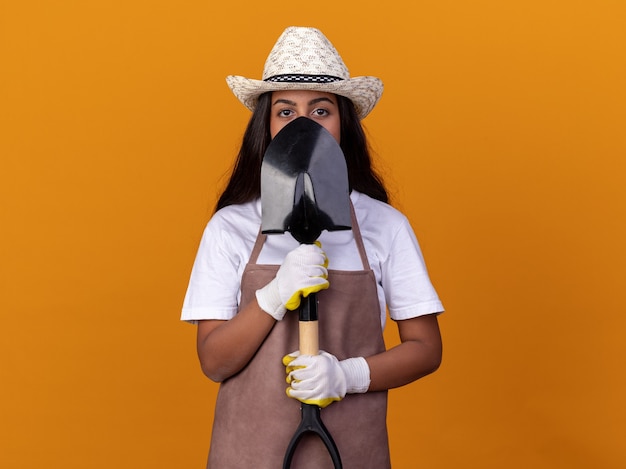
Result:
<svg viewBox="0 0 626 469"><path fill-rule="evenodd" d="M324 127L299 117L278 132L261 164L263 233L311 244L323 230L349 230L349 197L346 160Z"/></svg>

